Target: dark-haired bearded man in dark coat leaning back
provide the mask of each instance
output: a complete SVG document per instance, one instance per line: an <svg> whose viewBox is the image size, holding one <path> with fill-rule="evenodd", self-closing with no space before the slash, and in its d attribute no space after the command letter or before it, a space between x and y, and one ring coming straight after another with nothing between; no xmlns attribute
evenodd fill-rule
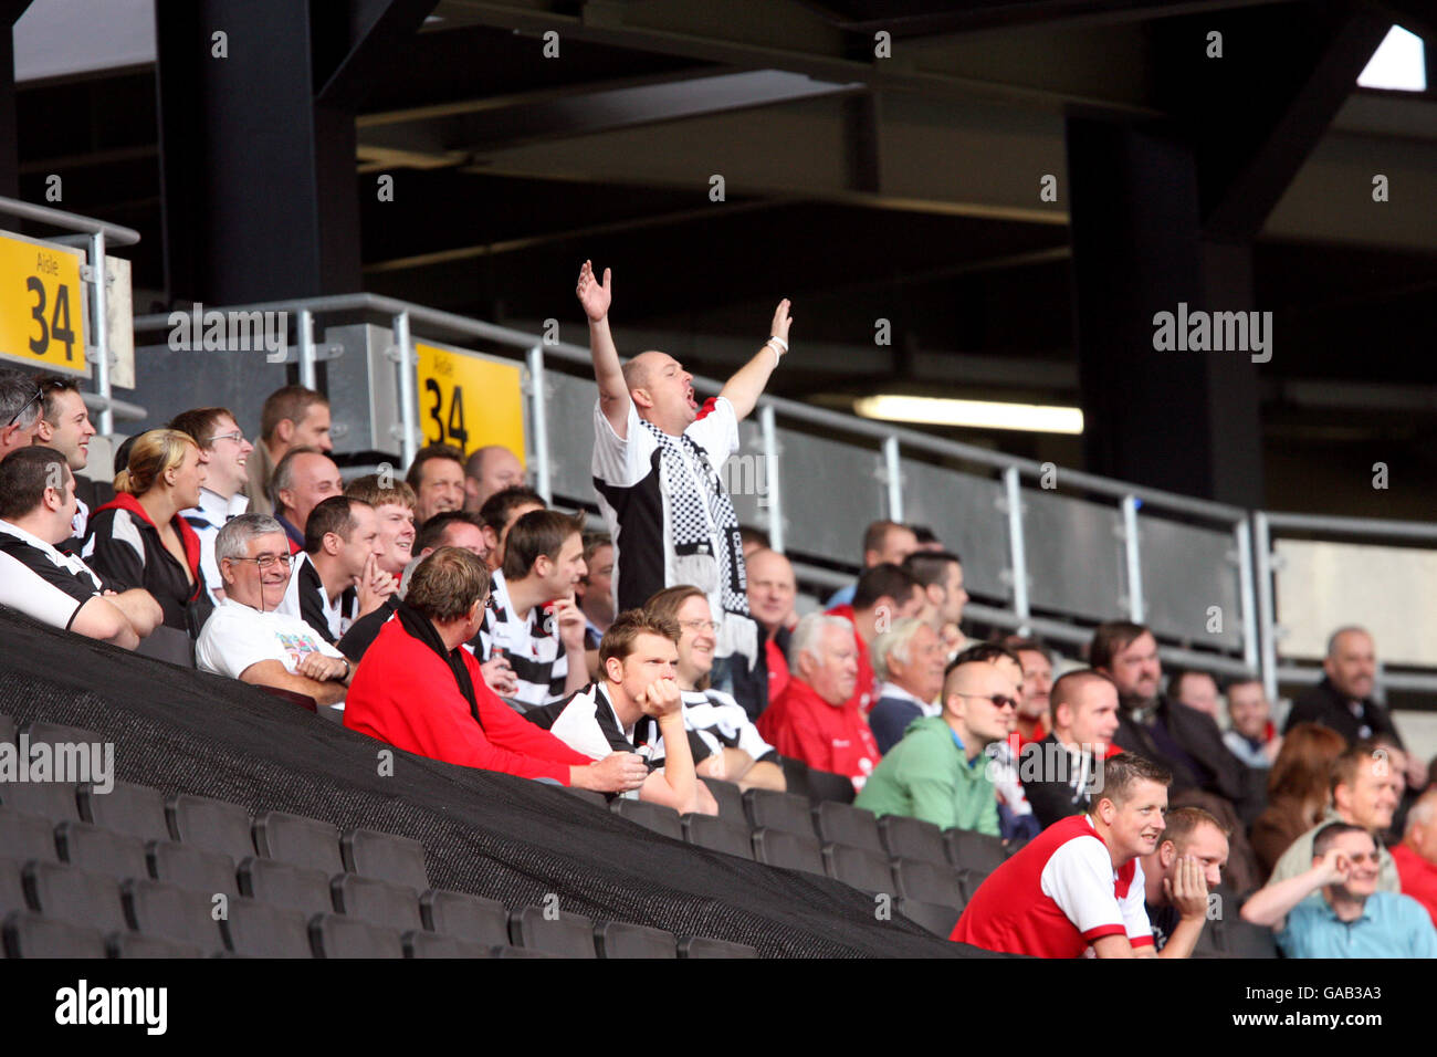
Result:
<svg viewBox="0 0 1437 1057"><path fill-rule="evenodd" d="M1152 633L1141 624L1099 624L1088 649L1095 669L1118 686L1119 745L1173 772L1173 792L1200 788L1227 800L1243 824L1263 808L1260 779L1223 745L1211 716L1158 693L1163 664Z"/></svg>

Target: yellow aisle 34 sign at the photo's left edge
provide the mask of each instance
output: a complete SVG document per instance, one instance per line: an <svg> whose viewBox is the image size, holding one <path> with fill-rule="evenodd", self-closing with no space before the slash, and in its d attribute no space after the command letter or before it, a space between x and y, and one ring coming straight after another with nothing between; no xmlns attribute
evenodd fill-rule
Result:
<svg viewBox="0 0 1437 1057"><path fill-rule="evenodd" d="M86 372L83 263L78 249L0 232L0 357Z"/></svg>

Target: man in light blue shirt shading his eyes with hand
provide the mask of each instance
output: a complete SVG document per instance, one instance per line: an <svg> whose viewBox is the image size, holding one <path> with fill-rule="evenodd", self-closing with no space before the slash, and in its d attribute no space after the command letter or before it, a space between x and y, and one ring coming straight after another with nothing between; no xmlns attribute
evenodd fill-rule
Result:
<svg viewBox="0 0 1437 1057"><path fill-rule="evenodd" d="M1437 958L1431 918L1378 890L1377 841L1349 823L1318 830L1308 869L1253 893L1242 913L1276 932L1288 958Z"/></svg>

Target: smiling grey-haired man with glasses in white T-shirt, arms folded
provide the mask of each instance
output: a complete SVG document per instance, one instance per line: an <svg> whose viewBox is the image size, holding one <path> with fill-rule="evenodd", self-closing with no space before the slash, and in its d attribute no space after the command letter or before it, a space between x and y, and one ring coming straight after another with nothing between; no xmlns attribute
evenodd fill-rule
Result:
<svg viewBox="0 0 1437 1057"><path fill-rule="evenodd" d="M299 617L276 613L289 587L289 541L266 513L241 513L214 541L224 598L204 623L195 666L254 686L343 700L354 666Z"/></svg>

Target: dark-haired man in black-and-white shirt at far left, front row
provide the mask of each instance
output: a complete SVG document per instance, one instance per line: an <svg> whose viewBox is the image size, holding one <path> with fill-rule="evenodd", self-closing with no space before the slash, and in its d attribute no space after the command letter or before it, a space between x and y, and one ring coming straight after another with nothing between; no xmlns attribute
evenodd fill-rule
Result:
<svg viewBox="0 0 1437 1057"><path fill-rule="evenodd" d="M55 548L72 538L75 475L63 452L27 447L0 463L0 604L52 627L134 650L164 620L142 588Z"/></svg>

